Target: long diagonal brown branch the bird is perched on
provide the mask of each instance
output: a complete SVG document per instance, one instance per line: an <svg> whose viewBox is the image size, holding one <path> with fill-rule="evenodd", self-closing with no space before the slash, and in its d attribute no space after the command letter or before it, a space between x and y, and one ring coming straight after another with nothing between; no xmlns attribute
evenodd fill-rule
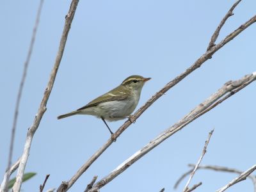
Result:
<svg viewBox="0 0 256 192"><path fill-rule="evenodd" d="M175 77L175 79L166 84L159 92L153 95L140 109L138 109L138 111L136 111L134 115L132 115L132 121L139 118L140 115L145 110L147 110L157 99L164 95L164 93L166 93L168 90L170 90L170 88L175 86L175 84L182 81L182 79L191 74L191 72L201 67L201 65L205 61L209 60L216 51L221 49L221 47L230 42L230 40L234 39L237 35L244 31L244 29L248 28L254 22L256 22L256 15L247 22L245 22L243 25L241 25L239 28L237 28L235 31L230 33L228 36L226 36L219 44L215 45L214 47L212 47L212 49L210 49L209 51L205 52L202 56L200 56L200 58L198 58L198 60L196 60L195 63L191 65L191 67L187 68L185 72L182 72L182 74ZM99 150L97 150L97 152L95 152L95 154L93 154L90 157L90 159L88 159L81 166L81 168L79 168L79 170L77 170L76 174L73 175L70 180L68 180L67 182L61 182L60 186L57 189L57 192L67 191L67 189L71 188L72 185L76 182L76 180L79 179L79 177L81 177L81 175L91 166L91 164L113 143L113 141L116 140L116 138L118 138L118 136L120 136L120 134L122 134L122 132L124 132L127 129L127 127L129 127L129 125L131 125L130 120L127 120L123 125L121 125L121 127L118 128L115 134L113 134L111 138L109 138L109 140L102 147L100 147Z"/></svg>

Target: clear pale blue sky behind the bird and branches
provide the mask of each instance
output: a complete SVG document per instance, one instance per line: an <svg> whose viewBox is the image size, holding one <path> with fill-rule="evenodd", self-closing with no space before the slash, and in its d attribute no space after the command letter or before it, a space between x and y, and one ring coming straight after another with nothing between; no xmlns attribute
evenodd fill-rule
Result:
<svg viewBox="0 0 256 192"><path fill-rule="evenodd" d="M109 138L103 122L93 116L56 116L80 108L108 92L125 77L152 77L139 106L164 84L184 72L205 52L213 31L234 1L80 1L47 111L35 134L26 172L37 175L22 185L38 191L58 188ZM1 1L1 134L0 178L7 164L17 90L39 1ZM45 1L20 104L13 162L20 157L49 79L70 1ZM217 41L255 15L255 1L242 1ZM256 26L225 45L211 60L157 100L93 163L70 191L83 191L93 175L99 179L134 154L225 82L256 70ZM196 163L208 132L215 132L202 164L246 170L255 164L255 83L177 132L133 164L100 191L173 191L173 184ZM139 108L138 106L138 108ZM137 108L137 109L138 109ZM116 130L124 121L111 122ZM12 175L14 177L15 174ZM236 175L198 171L191 186L215 191ZM187 179L186 179L187 180ZM186 180L177 191L182 190ZM229 191L252 191L245 180Z"/></svg>

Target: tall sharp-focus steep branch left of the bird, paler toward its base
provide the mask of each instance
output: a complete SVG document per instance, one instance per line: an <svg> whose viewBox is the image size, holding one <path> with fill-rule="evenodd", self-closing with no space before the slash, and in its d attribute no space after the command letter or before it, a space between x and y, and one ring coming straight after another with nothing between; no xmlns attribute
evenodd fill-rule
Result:
<svg viewBox="0 0 256 192"><path fill-rule="evenodd" d="M28 134L27 134L27 137L26 137L26 143L24 145L24 152L22 154L20 164L19 164L19 169L18 169L17 176L16 176L16 182L13 186L13 191L14 192L20 191L20 186L22 184L22 178L23 178L25 166L26 166L26 163L28 161L31 142L32 142L33 136L34 136L39 124L40 124L42 116L44 115L44 113L46 111L46 104L47 104L47 101L48 101L49 96L51 94L52 87L53 87L53 84L54 84L54 80L55 80L56 74L58 72L58 68L60 66L61 58L63 56L63 52L64 52L64 49L65 49L65 44L66 44L67 37L68 37L68 32L70 30L70 26L71 26L72 20L74 18L75 12L76 12L76 7L77 7L78 2L79 2L79 0L72 0L72 3L70 5L70 10L68 11L68 15L67 15L66 20L65 20L65 26L64 26L63 33L62 33L61 40L60 40L60 47L59 47L59 50L58 50L58 53L57 53L57 56L56 56L54 66L53 66L52 71L51 71L51 76L49 78L49 82L47 84L47 87L45 88L44 97L43 97L42 102L41 102L41 104L38 108L38 113L35 116L35 120L33 122L33 125L31 125L31 127L28 130Z"/></svg>

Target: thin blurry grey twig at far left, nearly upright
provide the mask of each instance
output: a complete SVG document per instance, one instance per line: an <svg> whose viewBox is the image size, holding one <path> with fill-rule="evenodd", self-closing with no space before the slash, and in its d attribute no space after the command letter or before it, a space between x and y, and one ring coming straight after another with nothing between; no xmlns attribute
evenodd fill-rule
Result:
<svg viewBox="0 0 256 192"><path fill-rule="evenodd" d="M14 113L14 117L13 117L12 134L11 134L11 140L10 140L7 170L10 170L10 167L11 167L11 164L12 164L13 145L14 145L14 140L15 140L17 120L18 120L18 116L19 116L20 99L21 99L21 96L22 96L22 91L23 91L23 87L24 87L24 83L25 83L26 76L27 76L27 71L28 71L28 65L29 65L29 61L30 61L30 58L31 58L31 54L32 54L35 39L36 39L36 31L37 31L38 24L39 24L39 21L40 21L40 15L41 15L41 10L42 10L43 4L44 4L44 0L40 0L40 4L38 6L38 11L37 11L37 14L36 14L35 26L33 28L33 34L32 34L30 45L29 45L28 55L27 55L26 61L24 63L23 74L22 74L22 77L21 77L21 80L20 80L19 92L18 92L18 95L17 95L16 105L15 105L15 113ZM8 191L8 182L9 182L9 179L10 179L10 175L11 175L10 173L7 174L6 182L4 183L4 186L3 186L4 191Z"/></svg>

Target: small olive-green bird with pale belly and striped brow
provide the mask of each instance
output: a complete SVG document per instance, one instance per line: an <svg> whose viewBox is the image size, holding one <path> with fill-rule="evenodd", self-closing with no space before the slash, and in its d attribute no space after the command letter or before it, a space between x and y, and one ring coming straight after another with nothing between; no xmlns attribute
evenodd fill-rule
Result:
<svg viewBox="0 0 256 192"><path fill-rule="evenodd" d="M134 75L129 76L113 90L100 95L92 100L86 106L58 116L58 119L66 118L73 115L93 115L101 118L108 127L111 135L113 132L109 128L106 120L109 122L129 118L140 100L141 90L146 81L151 78Z"/></svg>

